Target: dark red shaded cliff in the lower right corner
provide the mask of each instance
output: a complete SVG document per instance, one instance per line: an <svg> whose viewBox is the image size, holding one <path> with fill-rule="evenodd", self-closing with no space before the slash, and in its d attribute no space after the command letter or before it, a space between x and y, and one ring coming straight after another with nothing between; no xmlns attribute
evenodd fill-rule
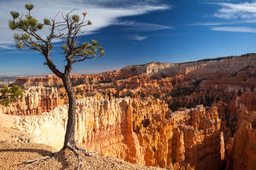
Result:
<svg viewBox="0 0 256 170"><path fill-rule="evenodd" d="M228 147L227 169L255 169L256 163L256 112L242 108L237 131Z"/></svg>

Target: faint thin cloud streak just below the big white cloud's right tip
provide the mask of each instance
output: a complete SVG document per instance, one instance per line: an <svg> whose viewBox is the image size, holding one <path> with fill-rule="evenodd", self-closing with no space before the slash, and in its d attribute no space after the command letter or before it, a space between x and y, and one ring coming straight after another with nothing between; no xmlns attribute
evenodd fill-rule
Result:
<svg viewBox="0 0 256 170"><path fill-rule="evenodd" d="M125 26L130 31L158 31L163 29L175 29L169 25L160 25L155 23L140 23L136 21L118 21L115 25Z"/></svg>

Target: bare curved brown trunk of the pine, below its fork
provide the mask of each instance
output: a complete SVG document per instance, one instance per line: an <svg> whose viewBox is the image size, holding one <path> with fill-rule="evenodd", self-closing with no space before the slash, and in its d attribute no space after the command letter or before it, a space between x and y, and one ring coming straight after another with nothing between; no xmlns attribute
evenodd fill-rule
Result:
<svg viewBox="0 0 256 170"><path fill-rule="evenodd" d="M67 145L71 145L75 147L75 108L76 108L76 102L75 102L75 92L74 88L72 86L70 75L64 76L62 78L62 82L65 86L65 89L67 91L67 94L69 96L69 118L67 122L67 130L65 134L65 141L62 149L66 149Z"/></svg>

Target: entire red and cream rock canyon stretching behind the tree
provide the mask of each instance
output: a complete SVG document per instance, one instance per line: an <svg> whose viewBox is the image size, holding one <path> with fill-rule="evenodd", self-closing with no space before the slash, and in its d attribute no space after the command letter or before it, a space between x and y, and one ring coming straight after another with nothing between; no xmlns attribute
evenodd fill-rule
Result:
<svg viewBox="0 0 256 170"><path fill-rule="evenodd" d="M76 142L88 151L167 169L254 169L256 54L72 75ZM53 75L17 78L24 98L0 106L17 142L58 150L67 94Z"/></svg>

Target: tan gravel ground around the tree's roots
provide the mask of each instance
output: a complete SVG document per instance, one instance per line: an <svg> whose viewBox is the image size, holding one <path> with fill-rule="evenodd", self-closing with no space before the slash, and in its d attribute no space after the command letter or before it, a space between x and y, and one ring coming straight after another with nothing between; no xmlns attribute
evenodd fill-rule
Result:
<svg viewBox="0 0 256 170"><path fill-rule="evenodd" d="M0 141L0 169L21 169L26 166L22 161L46 156L53 151L54 150L47 145ZM113 157L85 157L81 152L79 153L82 158L81 169L160 169L157 167L134 165ZM34 165L26 167L26 169L75 169L77 163L77 157L66 149L58 153L54 159L34 163Z"/></svg>

